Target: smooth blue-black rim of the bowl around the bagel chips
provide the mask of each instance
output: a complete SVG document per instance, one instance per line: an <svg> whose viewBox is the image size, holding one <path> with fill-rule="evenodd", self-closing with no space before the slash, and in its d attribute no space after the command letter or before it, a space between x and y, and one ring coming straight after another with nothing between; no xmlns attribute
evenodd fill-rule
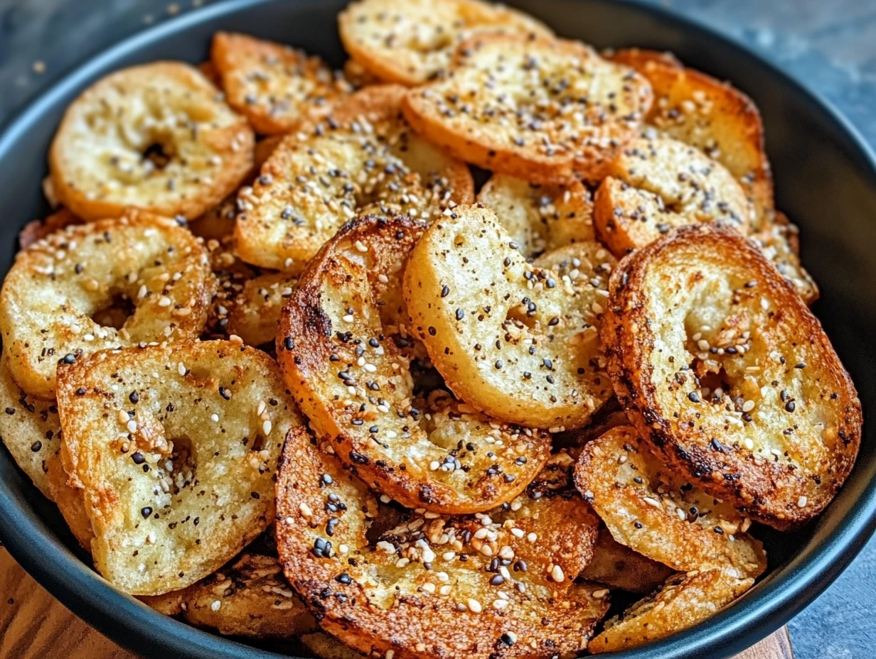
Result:
<svg viewBox="0 0 876 659"><path fill-rule="evenodd" d="M576 0L564 0L573 4ZM21 139L32 123L64 96L84 88L102 69L116 60L135 54L156 39L165 39L187 29L223 16L277 0L224 0L180 16L169 18L137 32L113 46L96 53L67 73L51 87L25 102L11 118L0 125L0 159ZM320 4L319 0L293 0L302 7ZM582 3L583 4L583 3ZM685 31L698 32L713 39L724 50L755 60L767 74L791 88L821 123L844 136L851 150L865 165L863 172L876 186L876 155L851 121L822 94L809 88L781 66L762 57L739 39L717 32L702 21L682 15L668 7L646 0L587 0L587 4L621 5L661 20L675 23ZM861 466L865 467L865 466ZM718 613L696 627L616 655L618 659L681 659L681 657L725 657L759 641L781 627L802 608L808 606L851 563L876 530L876 466L868 468L869 478L858 502L819 545L803 558L796 555L785 564L782 575L759 584L752 597L738 606ZM866 476L865 476L866 477ZM0 481L0 538L25 571L30 573L53 597L82 620L106 634L113 641L138 654L221 657L222 659L279 659L277 653L243 645L158 613L138 599L115 590L88 564L53 537L46 522L29 509L22 498ZM46 557L52 557L46 560ZM88 597L83 597L87 594ZM124 634L117 633L123 629ZM196 652L196 655L194 654Z"/></svg>

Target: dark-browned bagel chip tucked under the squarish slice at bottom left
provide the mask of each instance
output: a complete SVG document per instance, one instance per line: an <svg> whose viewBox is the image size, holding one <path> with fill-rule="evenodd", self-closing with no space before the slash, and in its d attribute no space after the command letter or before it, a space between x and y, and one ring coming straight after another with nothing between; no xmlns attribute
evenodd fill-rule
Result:
<svg viewBox="0 0 876 659"><path fill-rule="evenodd" d="M313 632L316 620L283 577L277 559L245 553L181 591L140 598L167 615L227 636L286 639Z"/></svg>

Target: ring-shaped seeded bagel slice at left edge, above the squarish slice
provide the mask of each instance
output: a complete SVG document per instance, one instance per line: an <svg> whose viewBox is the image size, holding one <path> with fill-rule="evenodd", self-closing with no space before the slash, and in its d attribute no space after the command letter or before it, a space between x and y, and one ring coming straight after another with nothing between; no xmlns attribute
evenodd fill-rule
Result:
<svg viewBox="0 0 876 659"><path fill-rule="evenodd" d="M175 221L131 211L70 226L19 252L6 275L4 354L25 391L51 398L59 362L198 336L214 291L201 242ZM111 323L102 312L120 301L130 315Z"/></svg>

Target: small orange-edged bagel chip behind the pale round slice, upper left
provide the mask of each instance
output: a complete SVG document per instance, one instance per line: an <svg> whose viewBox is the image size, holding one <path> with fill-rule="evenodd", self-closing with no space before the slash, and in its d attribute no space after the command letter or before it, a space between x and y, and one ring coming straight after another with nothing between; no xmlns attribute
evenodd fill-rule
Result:
<svg viewBox="0 0 876 659"><path fill-rule="evenodd" d="M294 130L352 91L320 58L236 32L216 32L210 60L229 105L261 135Z"/></svg>

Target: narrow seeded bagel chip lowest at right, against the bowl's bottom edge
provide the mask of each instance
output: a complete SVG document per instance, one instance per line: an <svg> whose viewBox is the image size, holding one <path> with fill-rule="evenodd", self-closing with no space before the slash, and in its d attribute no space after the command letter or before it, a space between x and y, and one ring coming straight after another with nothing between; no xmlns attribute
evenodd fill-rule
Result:
<svg viewBox="0 0 876 659"><path fill-rule="evenodd" d="M677 574L659 592L606 620L602 634L587 649L599 655L677 634L708 620L753 584L753 578L737 578L719 569Z"/></svg>

